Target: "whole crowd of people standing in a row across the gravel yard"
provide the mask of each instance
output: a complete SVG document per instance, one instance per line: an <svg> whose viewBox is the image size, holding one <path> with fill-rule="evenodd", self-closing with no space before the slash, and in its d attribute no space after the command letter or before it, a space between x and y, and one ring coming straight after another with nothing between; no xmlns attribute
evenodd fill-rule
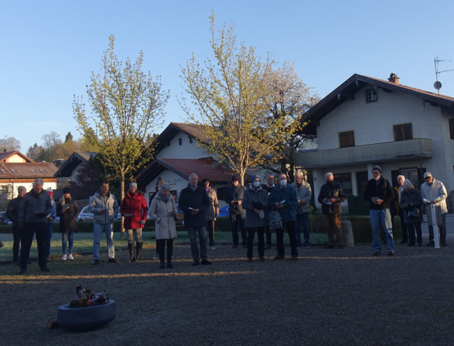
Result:
<svg viewBox="0 0 454 346"><path fill-rule="evenodd" d="M380 230L386 238L387 253L393 256L394 217L400 216L402 241L409 246L422 246L421 222L423 205L434 206L436 219L432 220L432 210L427 208L429 222L429 242L434 246L433 224L439 227L439 242L446 246L446 188L435 180L430 172L424 173L425 182L420 191L403 175L397 177L397 186L381 175L381 168L372 168L373 178L367 182L364 199L369 203L369 217L372 227L372 246L374 256L381 254ZM325 217L328 244L326 249L343 249L344 235L341 226L341 203L346 200L342 186L335 182L332 173L325 174L325 184L318 194L318 203ZM261 184L258 175L251 177L249 187L240 185L240 176L234 174L232 183L226 190L226 203L229 206L232 248L238 248L240 235L242 246L247 249L247 261L254 261L254 239L258 236L258 259L265 261L265 250L271 247L271 233L276 233L277 254L275 260L285 258L284 230L288 234L291 260L298 259L298 248L310 247L309 202L312 188L303 179L302 173L295 174L295 181L288 183L285 173L278 176L268 175L266 183ZM142 229L147 216L154 221L156 230L156 258L160 268L173 268L173 240L177 237L177 206L184 214L184 228L191 243L193 266L210 265L207 249L215 250L214 225L219 214L219 201L210 180L205 178L198 184L198 175L189 175L189 184L182 189L179 198L170 194L170 186L160 179L156 193L147 205L145 196L138 192L136 182L131 182L121 205L109 192L109 182L101 182L100 189L89 199L89 212L94 214L93 226L93 265L100 263L101 236L105 233L109 263L118 263L115 258L113 242L113 221L118 212L124 217L123 227L128 235L129 262L140 260L142 252ZM41 271L49 271L50 239L53 222L59 217L61 232L61 260L73 260L74 232L77 230L75 217L78 203L71 198L71 190L65 187L63 196L57 203L52 199L52 190L43 190L43 180L38 178L27 193L23 186L17 188L17 197L8 204L6 216L13 222L13 263L20 266L19 274L27 271L31 243L36 235L38 265ZM208 232L207 232L208 231ZM208 233L208 236L207 236ZM301 233L304 243L301 240ZM266 237L266 245L265 238ZM198 241L197 241L198 238ZM208 239L208 240L207 240ZM208 241L208 244L207 244ZM166 251L167 248L167 251ZM167 264L166 264L167 262Z"/></svg>

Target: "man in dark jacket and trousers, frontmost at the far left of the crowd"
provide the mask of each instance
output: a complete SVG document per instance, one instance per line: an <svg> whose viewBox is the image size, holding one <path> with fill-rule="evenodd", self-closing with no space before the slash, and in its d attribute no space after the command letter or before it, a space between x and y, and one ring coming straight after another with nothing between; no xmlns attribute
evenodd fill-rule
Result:
<svg viewBox="0 0 454 346"><path fill-rule="evenodd" d="M20 247L20 270L18 274L27 271L30 247L36 234L38 246L38 265L41 271L49 271L46 266L45 233L47 215L52 212L50 196L43 190L44 181L41 178L33 182L33 188L24 195L19 207L19 228L22 229Z"/></svg>

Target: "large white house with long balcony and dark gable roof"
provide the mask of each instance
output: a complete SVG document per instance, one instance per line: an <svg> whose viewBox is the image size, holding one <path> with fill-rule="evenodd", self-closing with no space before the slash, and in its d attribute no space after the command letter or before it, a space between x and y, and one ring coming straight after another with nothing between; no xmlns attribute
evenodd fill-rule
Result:
<svg viewBox="0 0 454 346"><path fill-rule="evenodd" d="M395 73L388 80L355 74L303 121L318 149L296 153L295 166L313 170L314 194L332 172L346 194L361 196L375 164L393 186L405 175L419 188L430 171L454 189L453 97L400 85Z"/></svg>

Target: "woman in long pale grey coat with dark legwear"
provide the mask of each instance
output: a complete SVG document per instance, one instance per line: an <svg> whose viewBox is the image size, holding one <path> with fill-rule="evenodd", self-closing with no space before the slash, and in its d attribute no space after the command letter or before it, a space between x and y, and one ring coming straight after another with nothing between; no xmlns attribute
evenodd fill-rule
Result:
<svg viewBox="0 0 454 346"><path fill-rule="evenodd" d="M175 199L170 194L170 186L166 183L161 185L161 189L154 196L152 205L148 210L148 215L154 220L156 229L156 249L159 253L160 268L166 268L164 252L167 243L167 268L173 268L173 238L177 238L177 205Z"/></svg>

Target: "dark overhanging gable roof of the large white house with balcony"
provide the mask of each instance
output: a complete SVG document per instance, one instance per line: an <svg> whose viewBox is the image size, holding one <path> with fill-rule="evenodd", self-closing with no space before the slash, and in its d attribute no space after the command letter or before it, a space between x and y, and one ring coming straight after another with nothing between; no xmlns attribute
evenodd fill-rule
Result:
<svg viewBox="0 0 454 346"><path fill-rule="evenodd" d="M391 73L391 75L393 74L394 73ZM454 108L454 98L451 96L427 92L425 90L399 84L398 82L390 82L379 78L367 77L367 75L354 74L305 113L302 121L309 122L309 124L307 124L302 132L305 134L316 134L316 127L320 123L321 118L337 108L337 106L344 101L355 99L355 93L366 85L374 85L375 87L383 89L385 92L402 92L404 94L416 96L433 105Z"/></svg>

